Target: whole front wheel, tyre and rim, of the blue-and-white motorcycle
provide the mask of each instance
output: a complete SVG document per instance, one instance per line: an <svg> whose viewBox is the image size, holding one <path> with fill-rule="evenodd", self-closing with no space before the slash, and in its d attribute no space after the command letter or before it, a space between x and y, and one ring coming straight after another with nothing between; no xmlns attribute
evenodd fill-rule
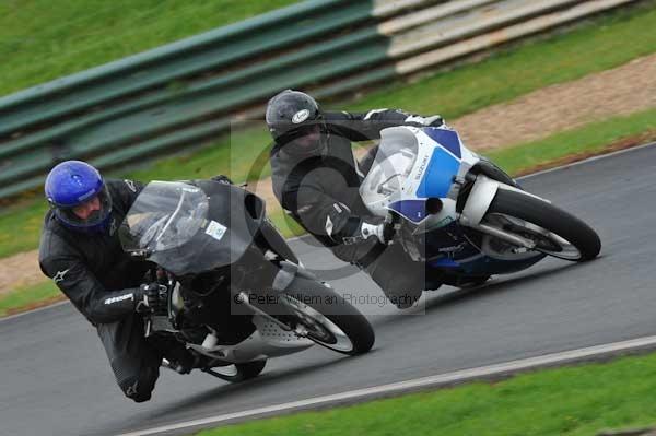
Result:
<svg viewBox="0 0 656 436"><path fill-rule="evenodd" d="M483 223L536 243L535 250L571 261L597 257L601 241L586 223L535 197L499 189Z"/></svg>

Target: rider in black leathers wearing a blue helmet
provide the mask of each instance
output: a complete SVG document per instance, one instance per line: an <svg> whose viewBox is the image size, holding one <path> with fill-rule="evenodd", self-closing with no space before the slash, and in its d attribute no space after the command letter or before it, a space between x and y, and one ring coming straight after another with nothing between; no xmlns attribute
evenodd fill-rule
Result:
<svg viewBox="0 0 656 436"><path fill-rule="evenodd" d="M42 271L97 329L116 380L136 402L148 401L162 357L186 373L190 353L177 341L144 337L144 313L165 310L156 282L142 284L152 263L124 252L117 227L142 189L132 180L104 180L91 165L67 161L46 179L39 246Z"/></svg>

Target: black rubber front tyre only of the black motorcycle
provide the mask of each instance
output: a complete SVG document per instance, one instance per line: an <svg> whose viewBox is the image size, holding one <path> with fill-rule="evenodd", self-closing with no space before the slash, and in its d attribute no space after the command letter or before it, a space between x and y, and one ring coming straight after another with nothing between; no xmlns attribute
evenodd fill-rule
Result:
<svg viewBox="0 0 656 436"><path fill-rule="evenodd" d="M338 342L308 334L307 338L315 343L348 355L366 353L374 345L375 334L367 319L328 285L315 279L297 275L285 291L285 295L291 297L289 301L293 304L301 303L309 306L337 326L348 337L352 347L347 350L338 346ZM321 322L320 319L315 320ZM326 326L324 328L325 333L329 335L330 329ZM333 335L333 339L338 341L339 338Z"/></svg>

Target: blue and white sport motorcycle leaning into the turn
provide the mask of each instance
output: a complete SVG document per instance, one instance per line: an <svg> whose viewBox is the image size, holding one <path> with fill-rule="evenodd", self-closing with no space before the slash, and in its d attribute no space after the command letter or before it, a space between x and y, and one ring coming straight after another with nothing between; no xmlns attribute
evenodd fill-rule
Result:
<svg viewBox="0 0 656 436"><path fill-rule="evenodd" d="M447 127L383 130L360 195L372 213L391 217L396 244L445 271L452 285L480 284L546 256L586 261L601 248L587 224L523 190Z"/></svg>

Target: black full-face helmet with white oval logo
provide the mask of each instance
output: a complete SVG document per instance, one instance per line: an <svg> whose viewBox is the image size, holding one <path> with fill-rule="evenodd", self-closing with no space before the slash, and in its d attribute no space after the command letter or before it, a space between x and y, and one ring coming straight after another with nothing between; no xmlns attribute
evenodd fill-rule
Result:
<svg viewBox="0 0 656 436"><path fill-rule="evenodd" d="M290 154L321 154L326 146L324 116L317 102L305 93L286 90L274 95L267 106L267 127Z"/></svg>

